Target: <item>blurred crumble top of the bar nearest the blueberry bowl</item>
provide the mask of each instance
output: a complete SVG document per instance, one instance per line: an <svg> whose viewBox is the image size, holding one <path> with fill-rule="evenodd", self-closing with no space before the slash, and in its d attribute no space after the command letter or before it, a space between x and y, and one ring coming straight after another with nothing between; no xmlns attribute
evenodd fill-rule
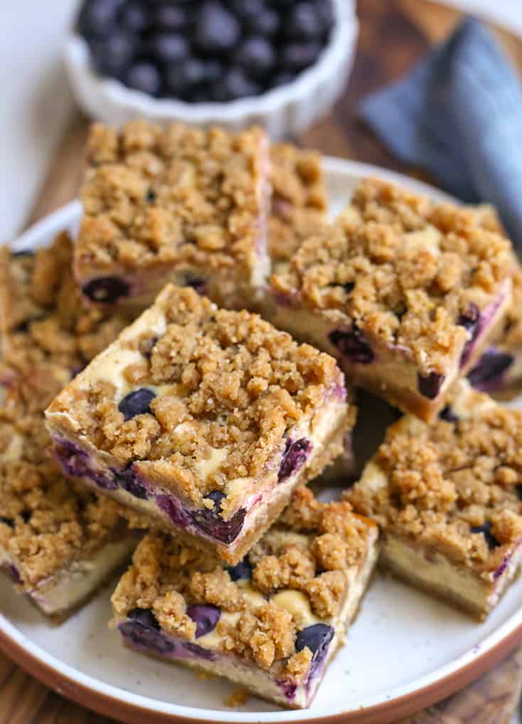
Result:
<svg viewBox="0 0 522 724"><path fill-rule="evenodd" d="M98 124L88 156L75 261L80 278L92 266L114 264L251 266L267 211L265 132L132 121L118 134Z"/></svg>

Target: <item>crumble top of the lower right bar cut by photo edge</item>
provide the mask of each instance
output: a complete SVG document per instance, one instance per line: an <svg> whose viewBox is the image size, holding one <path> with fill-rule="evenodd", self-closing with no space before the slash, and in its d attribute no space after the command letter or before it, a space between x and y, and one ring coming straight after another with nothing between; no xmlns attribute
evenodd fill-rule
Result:
<svg viewBox="0 0 522 724"><path fill-rule="evenodd" d="M455 421L406 416L390 426L346 497L385 532L489 578L522 536L522 412L466 382L448 405Z"/></svg>

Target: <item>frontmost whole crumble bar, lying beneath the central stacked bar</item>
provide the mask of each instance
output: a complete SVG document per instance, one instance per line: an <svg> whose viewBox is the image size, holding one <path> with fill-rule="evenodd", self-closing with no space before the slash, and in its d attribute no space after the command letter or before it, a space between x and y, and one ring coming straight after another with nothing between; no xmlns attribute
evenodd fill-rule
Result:
<svg viewBox="0 0 522 724"><path fill-rule="evenodd" d="M377 526L300 488L238 565L142 540L112 602L124 644L226 676L295 709L312 701L377 559Z"/></svg>

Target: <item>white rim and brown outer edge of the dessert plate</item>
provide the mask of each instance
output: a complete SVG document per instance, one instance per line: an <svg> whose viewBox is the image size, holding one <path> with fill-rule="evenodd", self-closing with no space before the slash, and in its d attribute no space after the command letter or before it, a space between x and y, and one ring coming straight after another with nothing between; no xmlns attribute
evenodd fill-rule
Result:
<svg viewBox="0 0 522 724"><path fill-rule="evenodd" d="M455 201L450 195L423 181L372 164L331 156L324 158L325 175L364 177L377 175L398 182L420 193L427 193L440 201ZM44 235L70 228L81 214L80 202L75 200L48 214L12 243L15 249L33 246ZM286 723L296 724L385 724L406 717L453 694L506 657L522 642L522 608L495 628L481 643L445 665L429 672L412 684L404 684L390 691L390 696L374 704L352 710L341 710L317 715L310 710L281 710L277 712L231 712L229 710L202 710L181 704L161 702L142 694L120 689L82 673L59 660L53 654L33 643L11 621L0 613L0 649L24 670L50 686L59 694L73 699L88 709L109 717L117 717L129 724L143 724L144 717L154 722L179 724L231 724ZM367 698L375 698L369 695ZM186 712L186 713L184 713Z"/></svg>

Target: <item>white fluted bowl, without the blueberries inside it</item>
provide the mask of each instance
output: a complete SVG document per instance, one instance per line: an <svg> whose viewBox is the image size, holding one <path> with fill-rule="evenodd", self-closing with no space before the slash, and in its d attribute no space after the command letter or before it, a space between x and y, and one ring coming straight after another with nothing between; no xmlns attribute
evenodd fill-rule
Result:
<svg viewBox="0 0 522 724"><path fill-rule="evenodd" d="M71 33L65 45L65 60L74 96L87 115L116 127L145 118L156 123L221 125L228 130L262 125L275 140L299 135L325 115L341 95L354 60L359 31L354 1L333 0L333 4L335 25L317 63L291 83L260 96L197 104L153 98L93 72L87 43Z"/></svg>

